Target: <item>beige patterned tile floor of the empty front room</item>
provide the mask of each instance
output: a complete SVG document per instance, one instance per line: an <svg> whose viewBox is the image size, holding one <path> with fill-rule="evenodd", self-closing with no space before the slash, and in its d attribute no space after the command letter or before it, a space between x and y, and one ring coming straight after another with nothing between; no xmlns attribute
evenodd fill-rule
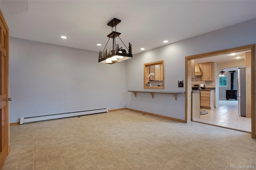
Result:
<svg viewBox="0 0 256 170"><path fill-rule="evenodd" d="M224 170L256 167L245 132L123 110L10 127L3 170Z"/></svg>

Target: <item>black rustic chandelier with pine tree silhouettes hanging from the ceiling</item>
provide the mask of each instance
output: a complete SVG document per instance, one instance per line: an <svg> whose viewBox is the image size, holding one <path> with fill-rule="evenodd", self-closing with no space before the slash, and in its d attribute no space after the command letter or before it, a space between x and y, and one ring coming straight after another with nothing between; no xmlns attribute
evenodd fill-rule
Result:
<svg viewBox="0 0 256 170"><path fill-rule="evenodd" d="M130 42L129 42L128 48L126 47L126 45L124 45L124 47L128 51L126 51L126 49L123 49L122 47L119 47L119 45L116 44L116 39L115 39L116 37L118 37L121 40L121 38L119 37L121 33L116 32L116 25L119 24L120 22L121 20L114 18L108 23L108 26L112 27L112 32L108 34L108 42L110 38L113 39L112 50L111 48L109 48L109 50L106 48L108 44L107 42L103 51L100 51L99 53L99 63L114 64L129 58L132 58L132 44ZM115 27L115 31L113 31L113 27ZM124 44L122 40L121 42Z"/></svg>

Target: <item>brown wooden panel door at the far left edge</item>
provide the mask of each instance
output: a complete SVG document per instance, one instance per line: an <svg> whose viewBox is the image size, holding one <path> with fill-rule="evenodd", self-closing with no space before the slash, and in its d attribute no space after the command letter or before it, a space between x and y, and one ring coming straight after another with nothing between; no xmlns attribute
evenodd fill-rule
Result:
<svg viewBox="0 0 256 170"><path fill-rule="evenodd" d="M4 164L9 145L9 30L0 11L0 168Z"/></svg>

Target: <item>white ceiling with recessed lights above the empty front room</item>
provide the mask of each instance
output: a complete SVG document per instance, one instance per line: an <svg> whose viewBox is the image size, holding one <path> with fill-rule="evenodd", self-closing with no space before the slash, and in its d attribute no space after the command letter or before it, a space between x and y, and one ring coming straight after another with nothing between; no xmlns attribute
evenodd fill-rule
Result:
<svg viewBox="0 0 256 170"><path fill-rule="evenodd" d="M98 52L111 32L107 23L118 18L116 31L133 54L256 18L255 6L243 0L0 1L11 37Z"/></svg>

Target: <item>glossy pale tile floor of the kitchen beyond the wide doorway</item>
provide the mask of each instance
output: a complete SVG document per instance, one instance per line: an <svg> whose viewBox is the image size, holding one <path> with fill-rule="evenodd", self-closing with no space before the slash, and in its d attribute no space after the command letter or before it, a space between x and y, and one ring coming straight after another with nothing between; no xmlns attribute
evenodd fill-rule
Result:
<svg viewBox="0 0 256 170"><path fill-rule="evenodd" d="M203 109L208 111L208 114L200 115L194 121L242 130L244 132L252 131L251 118L238 115L238 101L220 99L219 105L220 107L216 109Z"/></svg>

